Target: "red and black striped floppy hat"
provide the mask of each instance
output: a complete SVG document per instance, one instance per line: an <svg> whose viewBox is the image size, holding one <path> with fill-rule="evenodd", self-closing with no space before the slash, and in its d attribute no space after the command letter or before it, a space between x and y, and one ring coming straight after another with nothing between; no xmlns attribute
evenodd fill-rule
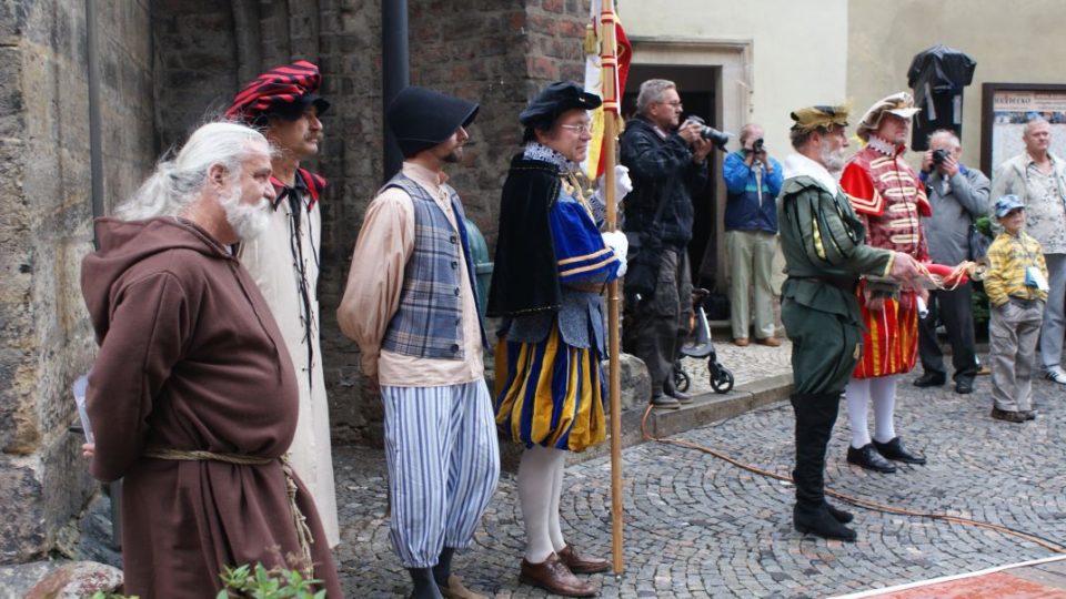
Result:
<svg viewBox="0 0 1066 599"><path fill-rule="evenodd" d="M311 104L322 114L330 103L318 94L321 83L319 68L305 60L271 69L233 97L225 116L247 123L271 115L293 121Z"/></svg>

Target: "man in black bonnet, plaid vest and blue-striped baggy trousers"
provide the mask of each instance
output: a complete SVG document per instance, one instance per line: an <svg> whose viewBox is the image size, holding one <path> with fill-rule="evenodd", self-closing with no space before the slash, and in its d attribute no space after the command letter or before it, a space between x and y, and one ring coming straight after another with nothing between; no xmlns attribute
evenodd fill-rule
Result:
<svg viewBox="0 0 1066 599"><path fill-rule="evenodd" d="M414 597L480 597L451 573L496 488L500 451L463 205L444 167L479 105L411 87L389 104L403 169L363 216L341 331L385 410L391 538Z"/></svg>

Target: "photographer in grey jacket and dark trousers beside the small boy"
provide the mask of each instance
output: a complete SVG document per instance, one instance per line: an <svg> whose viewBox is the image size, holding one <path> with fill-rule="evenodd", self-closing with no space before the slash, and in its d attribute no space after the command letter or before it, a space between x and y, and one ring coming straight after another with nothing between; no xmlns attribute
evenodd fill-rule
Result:
<svg viewBox="0 0 1066 599"><path fill-rule="evenodd" d="M926 196L933 206L933 215L922 219L922 226L929 245L929 257L937 264L954 265L976 257L969 245L971 225L988 212L992 183L980 171L963 165L959 161L962 153L955 133L942 129L929 135L929 150L922 158L918 179L925 183ZM971 283L951 291L929 292L929 315L918 321L918 356L923 374L915 379L916 387L941 386L947 380L944 353L936 341L938 314L952 344L955 393L973 393L977 348L971 296Z"/></svg>

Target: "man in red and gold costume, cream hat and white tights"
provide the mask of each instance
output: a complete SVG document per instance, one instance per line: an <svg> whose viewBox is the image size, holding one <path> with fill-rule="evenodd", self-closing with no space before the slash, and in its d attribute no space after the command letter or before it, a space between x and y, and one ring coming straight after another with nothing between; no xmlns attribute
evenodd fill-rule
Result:
<svg viewBox="0 0 1066 599"><path fill-rule="evenodd" d="M866 224L866 243L928 262L922 231L929 201L917 174L903 160L911 119L918 109L907 92L876 102L858 124L866 145L844 167L841 187ZM909 373L917 357L917 301L924 291L867 276L856 291L863 322L863 356L845 389L852 444L847 461L894 473L889 460L925 464L908 451L895 432L896 378ZM866 413L873 400L876 429L871 438ZM887 458L887 459L886 459Z"/></svg>

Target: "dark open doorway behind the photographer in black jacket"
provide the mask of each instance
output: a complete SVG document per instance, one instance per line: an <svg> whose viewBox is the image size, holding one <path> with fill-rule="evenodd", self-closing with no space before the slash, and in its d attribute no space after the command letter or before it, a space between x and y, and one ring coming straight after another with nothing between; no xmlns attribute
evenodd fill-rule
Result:
<svg viewBox="0 0 1066 599"><path fill-rule="evenodd" d="M633 64L630 67L625 94L622 98L622 113L626 119L636 113L636 93L641 83L648 79L668 79L677 84L681 102L684 104L682 121L690 114L702 118L708 125L718 126L717 89L718 68L685 67L676 64ZM700 287L715 288L718 274L718 246L716 243L718 216L717 169L721 153L714 151L711 180L706 189L693 197L695 221L692 227L692 242L688 244L688 263L692 265L692 282ZM724 284L724 282L723 282Z"/></svg>

